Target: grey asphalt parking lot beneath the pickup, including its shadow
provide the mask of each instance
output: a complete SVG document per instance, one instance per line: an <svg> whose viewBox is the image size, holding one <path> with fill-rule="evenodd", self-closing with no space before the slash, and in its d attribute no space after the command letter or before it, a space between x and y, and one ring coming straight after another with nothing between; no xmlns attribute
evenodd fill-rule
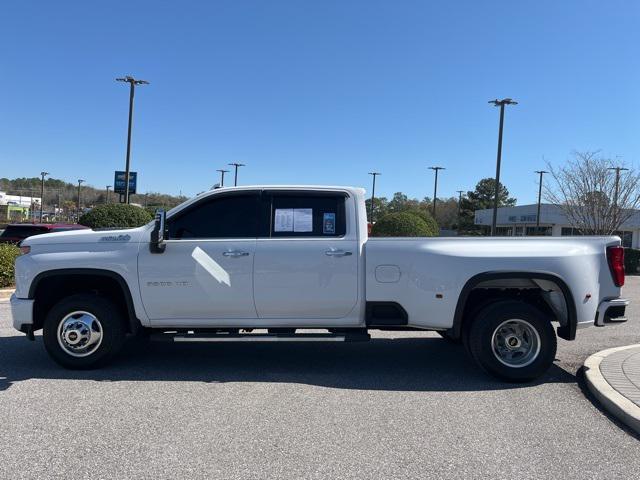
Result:
<svg viewBox="0 0 640 480"><path fill-rule="evenodd" d="M539 382L479 372L434 334L363 344L129 345L66 371L0 303L0 478L639 478L640 440L579 368L640 342L626 324L559 340Z"/></svg>

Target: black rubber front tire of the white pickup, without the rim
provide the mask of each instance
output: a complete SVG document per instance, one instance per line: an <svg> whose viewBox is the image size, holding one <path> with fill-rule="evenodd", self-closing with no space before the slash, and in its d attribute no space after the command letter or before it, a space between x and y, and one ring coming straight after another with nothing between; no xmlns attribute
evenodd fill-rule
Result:
<svg viewBox="0 0 640 480"><path fill-rule="evenodd" d="M77 353L86 356L73 356L58 339L61 323L73 312L87 312L98 320L95 327L100 335L100 342L94 350ZM98 328L99 327L99 328ZM65 368L83 370L105 365L118 353L125 340L124 321L119 309L113 302L99 295L77 294L58 302L47 314L43 329L44 346L53 360Z"/></svg>

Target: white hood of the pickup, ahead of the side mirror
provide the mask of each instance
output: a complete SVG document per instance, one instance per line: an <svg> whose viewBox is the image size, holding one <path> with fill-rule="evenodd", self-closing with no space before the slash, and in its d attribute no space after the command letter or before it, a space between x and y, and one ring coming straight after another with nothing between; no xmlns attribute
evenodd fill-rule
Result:
<svg viewBox="0 0 640 480"><path fill-rule="evenodd" d="M45 246L86 243L130 243L139 242L147 226L119 230L69 230L67 232L34 235L22 241L25 246Z"/></svg>

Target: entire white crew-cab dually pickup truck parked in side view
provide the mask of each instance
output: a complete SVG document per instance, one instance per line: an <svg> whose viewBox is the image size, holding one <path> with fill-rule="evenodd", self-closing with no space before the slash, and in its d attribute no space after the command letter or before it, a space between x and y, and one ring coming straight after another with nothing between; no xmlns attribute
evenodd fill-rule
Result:
<svg viewBox="0 0 640 480"><path fill-rule="evenodd" d="M21 249L14 327L30 339L43 329L68 368L106 363L127 335L433 330L486 372L528 381L552 364L556 332L624 321L628 304L618 237L368 238L364 190L351 187L220 188L140 228L39 235Z"/></svg>

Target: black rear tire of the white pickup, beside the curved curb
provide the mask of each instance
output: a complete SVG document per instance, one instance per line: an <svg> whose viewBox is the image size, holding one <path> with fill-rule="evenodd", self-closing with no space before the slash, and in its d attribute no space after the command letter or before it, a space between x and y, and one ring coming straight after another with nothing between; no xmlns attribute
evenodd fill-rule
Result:
<svg viewBox="0 0 640 480"><path fill-rule="evenodd" d="M505 330L511 332L513 325L523 329L524 334L515 335L515 339L511 338L514 336L512 333L505 336ZM471 357L480 368L507 382L528 382L540 377L553 364L557 349L556 334L550 319L532 305L517 300L498 301L480 310L463 338ZM522 338L525 342L521 342ZM507 345L511 341L529 354L520 350L514 352ZM536 344L537 348L522 347ZM506 353L506 356L500 352ZM508 358L508 355L513 358ZM518 362L521 364L517 365Z"/></svg>

